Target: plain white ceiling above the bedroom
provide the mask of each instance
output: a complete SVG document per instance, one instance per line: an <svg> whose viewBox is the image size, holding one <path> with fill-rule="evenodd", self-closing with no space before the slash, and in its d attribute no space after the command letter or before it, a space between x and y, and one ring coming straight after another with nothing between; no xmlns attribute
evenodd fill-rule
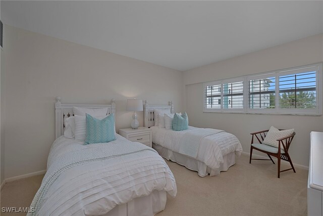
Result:
<svg viewBox="0 0 323 216"><path fill-rule="evenodd" d="M323 32L323 1L1 1L3 23L185 71Z"/></svg>

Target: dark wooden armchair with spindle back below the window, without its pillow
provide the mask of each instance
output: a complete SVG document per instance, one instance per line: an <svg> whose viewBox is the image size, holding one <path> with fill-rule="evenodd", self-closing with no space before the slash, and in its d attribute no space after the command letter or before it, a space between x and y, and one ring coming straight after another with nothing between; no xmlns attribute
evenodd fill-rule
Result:
<svg viewBox="0 0 323 216"><path fill-rule="evenodd" d="M283 171L293 169L293 171L296 172L295 168L293 166L291 157L288 154L288 149L289 149L289 147L290 147L290 145L292 143L292 140L293 140L293 138L295 136L295 132L292 135L288 136L288 137L284 137L282 139L277 140L279 142L279 146L278 146L278 148L275 148L273 146L268 146L268 145L262 144L262 142L263 142L264 138L266 137L266 134L267 134L268 131L269 130L251 133L252 138L251 138L251 145L250 145L250 160L249 160L249 163L251 163L251 160L271 160L275 164L274 160L271 157L271 156L274 156L274 157L277 157L277 159L278 159L278 178L280 178L280 173L283 172ZM280 129L280 131L281 131L281 129ZM259 144L253 143L254 137L257 138ZM283 146L284 150L281 149L281 146ZM252 156L252 150L253 149L267 154L270 159L252 159L251 156ZM285 169L285 170L280 170L281 169L281 159L288 161L291 164L292 168Z"/></svg>

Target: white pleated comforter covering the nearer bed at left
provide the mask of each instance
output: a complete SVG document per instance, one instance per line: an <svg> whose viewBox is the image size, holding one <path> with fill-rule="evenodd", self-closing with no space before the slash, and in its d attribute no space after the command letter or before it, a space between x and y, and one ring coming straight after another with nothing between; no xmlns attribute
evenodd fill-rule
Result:
<svg viewBox="0 0 323 216"><path fill-rule="evenodd" d="M110 143L82 144L64 136L53 143L31 204L35 212L28 215L110 215L156 192L176 195L172 171L152 148L120 135Z"/></svg>

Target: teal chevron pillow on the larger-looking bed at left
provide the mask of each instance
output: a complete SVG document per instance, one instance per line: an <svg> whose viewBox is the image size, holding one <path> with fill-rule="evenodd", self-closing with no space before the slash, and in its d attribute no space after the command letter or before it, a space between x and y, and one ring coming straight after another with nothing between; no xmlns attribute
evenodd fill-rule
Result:
<svg viewBox="0 0 323 216"><path fill-rule="evenodd" d="M116 140L115 115L106 116L102 120L86 114L86 139L84 145L92 143L109 143Z"/></svg>

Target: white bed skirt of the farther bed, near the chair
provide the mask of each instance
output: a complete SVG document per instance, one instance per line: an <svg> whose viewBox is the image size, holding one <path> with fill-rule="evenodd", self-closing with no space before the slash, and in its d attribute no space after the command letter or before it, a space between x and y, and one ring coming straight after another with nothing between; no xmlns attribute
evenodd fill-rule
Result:
<svg viewBox="0 0 323 216"><path fill-rule="evenodd" d="M152 148L154 148L161 157L164 157L167 160L174 161L180 165L185 166L188 169L198 172L200 177L210 176L219 176L221 171L227 171L230 166L236 163L235 152L231 152L223 156L224 162L220 164L218 169L211 169L205 163L196 160L191 157L187 157L183 154L173 152L163 146L152 143Z"/></svg>

